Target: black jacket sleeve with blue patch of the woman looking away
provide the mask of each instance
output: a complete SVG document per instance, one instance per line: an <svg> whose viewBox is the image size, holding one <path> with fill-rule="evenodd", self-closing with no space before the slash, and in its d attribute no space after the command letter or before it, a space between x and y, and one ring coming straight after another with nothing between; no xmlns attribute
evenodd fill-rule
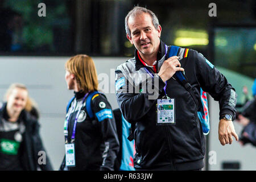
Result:
<svg viewBox="0 0 256 182"><path fill-rule="evenodd" d="M115 159L119 151L119 141L115 119L108 100L101 94L92 99L94 117L98 121L103 139L101 171L114 170Z"/></svg>

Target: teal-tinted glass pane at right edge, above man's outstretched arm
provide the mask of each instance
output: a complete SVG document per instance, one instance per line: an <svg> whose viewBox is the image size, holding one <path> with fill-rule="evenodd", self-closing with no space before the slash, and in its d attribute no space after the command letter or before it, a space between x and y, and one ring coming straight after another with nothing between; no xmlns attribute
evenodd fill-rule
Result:
<svg viewBox="0 0 256 182"><path fill-rule="evenodd" d="M214 64L256 78L256 27L214 30Z"/></svg>

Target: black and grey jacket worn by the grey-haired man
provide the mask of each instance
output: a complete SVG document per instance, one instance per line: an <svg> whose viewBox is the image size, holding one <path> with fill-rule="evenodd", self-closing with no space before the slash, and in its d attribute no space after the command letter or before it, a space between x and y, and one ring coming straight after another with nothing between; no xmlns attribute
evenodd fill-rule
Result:
<svg viewBox="0 0 256 182"><path fill-rule="evenodd" d="M156 70L159 72L166 60L165 44L161 41ZM234 118L236 92L226 78L201 53L179 48L181 67L191 84L198 102L174 78L167 81L168 97L175 98L176 125L156 125L157 99L164 96L166 85L155 74L146 72L135 57L119 65L115 71L117 102L125 119L134 126L136 154L134 167L154 169L166 166L173 170L199 169L204 166L205 139L197 116L200 87L220 104L220 115ZM152 73L151 68L147 68ZM148 86L149 85L149 86ZM153 89L151 89L153 88ZM152 92L152 90L154 92ZM216 121L212 121L216 122Z"/></svg>

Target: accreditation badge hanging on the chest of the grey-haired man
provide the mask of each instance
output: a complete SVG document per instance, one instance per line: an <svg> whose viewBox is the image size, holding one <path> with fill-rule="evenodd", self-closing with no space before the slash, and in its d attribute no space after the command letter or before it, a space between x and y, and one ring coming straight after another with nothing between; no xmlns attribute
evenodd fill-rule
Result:
<svg viewBox="0 0 256 182"><path fill-rule="evenodd" d="M175 125L175 99L158 99L156 105L156 125Z"/></svg>

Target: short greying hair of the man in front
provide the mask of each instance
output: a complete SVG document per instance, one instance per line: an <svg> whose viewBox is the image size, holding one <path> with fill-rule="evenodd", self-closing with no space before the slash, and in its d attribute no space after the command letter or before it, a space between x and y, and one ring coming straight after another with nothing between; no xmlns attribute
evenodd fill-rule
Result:
<svg viewBox="0 0 256 182"><path fill-rule="evenodd" d="M131 11L129 11L129 13L125 17L125 31L126 31L126 34L128 34L130 37L131 37L131 31L128 26L128 19L130 18L130 16L135 17L136 15L142 14L142 13L148 13L151 16L152 23L154 24L155 29L156 30L158 29L159 21L156 15L151 10L148 10L145 7L135 6Z"/></svg>

